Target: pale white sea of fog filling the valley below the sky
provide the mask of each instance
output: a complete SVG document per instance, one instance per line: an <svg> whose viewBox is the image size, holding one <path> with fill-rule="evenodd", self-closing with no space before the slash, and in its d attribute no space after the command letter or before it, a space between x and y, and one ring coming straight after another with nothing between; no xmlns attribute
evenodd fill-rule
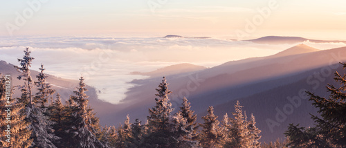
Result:
<svg viewBox="0 0 346 148"><path fill-rule="evenodd" d="M345 44L315 44L319 49ZM273 55L292 44L266 45L221 38L164 38L114 36L23 36L0 37L0 60L19 65L23 50L32 51L32 69L44 64L46 73L73 80L83 75L86 84L95 87L98 97L111 103L125 98L131 80L145 79L130 75L148 72L172 64L191 63L206 67L248 57ZM155 88L153 88L155 89Z"/></svg>

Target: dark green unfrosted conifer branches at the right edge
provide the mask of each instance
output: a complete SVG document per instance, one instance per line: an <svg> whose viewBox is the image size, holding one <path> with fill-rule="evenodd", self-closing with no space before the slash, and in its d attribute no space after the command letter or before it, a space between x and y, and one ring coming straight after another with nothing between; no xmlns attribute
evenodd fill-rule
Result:
<svg viewBox="0 0 346 148"><path fill-rule="evenodd" d="M343 63L346 68L346 63ZM346 147L346 74L335 73L334 80L340 87L328 84L329 98L322 98L307 92L313 106L320 115L311 115L316 127L304 128L290 124L285 132L289 138L288 146L306 145L307 147Z"/></svg>

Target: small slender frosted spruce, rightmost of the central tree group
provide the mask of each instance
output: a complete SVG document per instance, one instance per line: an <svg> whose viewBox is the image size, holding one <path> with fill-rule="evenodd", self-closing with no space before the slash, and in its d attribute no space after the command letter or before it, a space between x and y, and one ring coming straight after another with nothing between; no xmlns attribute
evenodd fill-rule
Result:
<svg viewBox="0 0 346 148"><path fill-rule="evenodd" d="M250 121L248 121L248 134L249 134L249 142L250 147L253 148L259 148L261 145L261 142L258 142L262 136L259 134L261 133L261 130L256 127L255 122L255 116L253 116L253 113L251 113Z"/></svg>

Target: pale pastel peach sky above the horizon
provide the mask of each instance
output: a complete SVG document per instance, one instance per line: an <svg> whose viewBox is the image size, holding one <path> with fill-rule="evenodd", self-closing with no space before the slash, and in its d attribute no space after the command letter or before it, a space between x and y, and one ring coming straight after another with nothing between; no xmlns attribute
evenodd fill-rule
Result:
<svg viewBox="0 0 346 148"><path fill-rule="evenodd" d="M42 0L39 5L28 4L37 1L2 0L0 36L118 33L237 38L240 30L245 39L264 35L346 39L344 0ZM270 14L261 15L259 9L266 8ZM18 15L26 22L16 24ZM246 31L249 21L255 29Z"/></svg>

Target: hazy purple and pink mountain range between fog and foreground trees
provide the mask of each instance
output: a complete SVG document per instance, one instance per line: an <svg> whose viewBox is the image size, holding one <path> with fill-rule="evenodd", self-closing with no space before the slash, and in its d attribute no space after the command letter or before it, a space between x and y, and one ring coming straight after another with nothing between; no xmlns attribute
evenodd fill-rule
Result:
<svg viewBox="0 0 346 148"><path fill-rule="evenodd" d="M327 96L325 86L334 84L334 72L343 73L338 63L346 62L346 47L319 50L302 44L306 41L302 37L262 37L249 41L259 44L296 43L296 46L275 55L226 62L212 68L178 64L152 72L135 72L132 74L150 77L133 80L131 83L136 85L129 89L127 98L119 104L98 100L95 89L87 86L89 104L97 112L102 125L118 126L126 115L131 121L138 118L145 122L148 109L155 105L155 89L165 76L173 92L169 97L175 112L179 110L182 98L186 97L199 122L202 122L201 117L206 115L209 106L215 108L215 114L221 120L225 113L230 115L234 111L233 105L239 100L248 117L251 113L255 115L256 125L262 130L262 141L284 138L289 123L313 127L309 113L316 114L316 109L304 91ZM19 84L12 64L1 61L0 71L11 74L14 85ZM32 77L37 74L37 71L32 71ZM78 86L78 80L53 75L48 75L47 81L65 99ZM16 95L19 95L18 91Z"/></svg>

